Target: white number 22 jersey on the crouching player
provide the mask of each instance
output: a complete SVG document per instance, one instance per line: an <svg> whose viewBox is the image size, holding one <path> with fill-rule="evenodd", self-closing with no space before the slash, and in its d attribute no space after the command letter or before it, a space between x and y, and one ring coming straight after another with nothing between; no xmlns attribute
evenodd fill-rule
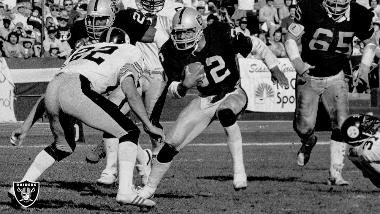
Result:
<svg viewBox="0 0 380 214"><path fill-rule="evenodd" d="M99 94L115 89L125 77L137 81L142 74L142 53L130 44L95 43L76 50L62 65L60 73L80 73Z"/></svg>

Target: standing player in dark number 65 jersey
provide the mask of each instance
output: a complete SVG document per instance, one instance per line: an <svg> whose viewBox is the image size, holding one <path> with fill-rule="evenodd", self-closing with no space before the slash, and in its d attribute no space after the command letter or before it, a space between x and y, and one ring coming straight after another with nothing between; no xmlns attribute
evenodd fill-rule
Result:
<svg viewBox="0 0 380 214"><path fill-rule="evenodd" d="M348 117L348 92L343 67L352 51L356 35L366 45L355 85L368 83L369 67L374 58L376 41L372 28L373 13L350 0L304 0L299 2L294 23L288 28L285 50L296 69L296 110L293 127L302 147L297 163L304 166L317 142L314 135L318 102L321 99L331 118L329 185L348 185L342 178L346 144L340 127ZM297 41L301 39L299 54Z"/></svg>

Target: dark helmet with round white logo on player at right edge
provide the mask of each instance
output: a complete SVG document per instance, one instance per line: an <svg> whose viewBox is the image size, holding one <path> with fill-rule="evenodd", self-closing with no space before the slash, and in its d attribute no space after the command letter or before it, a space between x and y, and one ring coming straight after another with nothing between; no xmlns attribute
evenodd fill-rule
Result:
<svg viewBox="0 0 380 214"><path fill-rule="evenodd" d="M380 120L377 117L365 114L350 115L344 122L340 131L344 142L349 145L360 145L366 139L377 133Z"/></svg>

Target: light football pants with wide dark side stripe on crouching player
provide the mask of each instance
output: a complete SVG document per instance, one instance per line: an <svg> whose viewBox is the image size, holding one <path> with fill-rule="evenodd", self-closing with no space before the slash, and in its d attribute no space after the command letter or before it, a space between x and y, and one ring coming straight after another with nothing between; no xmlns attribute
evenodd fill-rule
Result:
<svg viewBox="0 0 380 214"><path fill-rule="evenodd" d="M91 90L90 81L79 73L62 73L47 85L45 109L55 146L64 152L73 152L75 148L74 136L67 127L72 118L117 138L139 130L117 105Z"/></svg>

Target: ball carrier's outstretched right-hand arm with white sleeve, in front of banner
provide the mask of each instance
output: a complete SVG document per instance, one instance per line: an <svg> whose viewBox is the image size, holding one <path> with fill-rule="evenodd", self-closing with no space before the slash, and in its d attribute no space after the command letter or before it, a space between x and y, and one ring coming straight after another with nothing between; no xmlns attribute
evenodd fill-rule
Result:
<svg viewBox="0 0 380 214"><path fill-rule="evenodd" d="M257 37L247 37L250 39L252 43L252 48L250 52L255 52L255 57L262 60L264 64L268 67L268 69L272 73L272 81L275 84L276 81L279 83L281 87L288 88L289 80L285 77L284 73L279 68L279 60L272 53L268 46L265 45L263 41L261 41Z"/></svg>

